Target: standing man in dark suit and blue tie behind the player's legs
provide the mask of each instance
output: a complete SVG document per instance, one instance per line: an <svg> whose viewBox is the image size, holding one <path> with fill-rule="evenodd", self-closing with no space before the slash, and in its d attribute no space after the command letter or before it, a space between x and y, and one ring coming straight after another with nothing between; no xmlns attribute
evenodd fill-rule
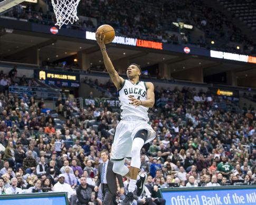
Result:
<svg viewBox="0 0 256 205"><path fill-rule="evenodd" d="M99 166L98 179L96 181L96 187L94 191L98 191L98 187L101 184L101 189L103 193L103 205L113 204L113 198L117 193L117 180L119 182L121 193L125 192L124 182L122 181L122 176L113 172L113 162L108 160L107 151L103 150L100 153L103 163Z"/></svg>

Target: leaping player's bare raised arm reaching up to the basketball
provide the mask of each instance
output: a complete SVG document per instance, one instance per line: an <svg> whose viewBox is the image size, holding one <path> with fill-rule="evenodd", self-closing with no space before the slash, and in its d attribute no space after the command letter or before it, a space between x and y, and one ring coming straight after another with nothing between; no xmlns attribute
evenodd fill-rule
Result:
<svg viewBox="0 0 256 205"><path fill-rule="evenodd" d="M120 77L115 70L110 58L108 57L108 53L106 50L106 45L104 43L105 36L101 36L101 33L96 32L96 40L98 45L100 46L100 50L103 56L104 65L108 70L109 76L116 86L117 89L121 88L122 83L124 83L124 78Z"/></svg>

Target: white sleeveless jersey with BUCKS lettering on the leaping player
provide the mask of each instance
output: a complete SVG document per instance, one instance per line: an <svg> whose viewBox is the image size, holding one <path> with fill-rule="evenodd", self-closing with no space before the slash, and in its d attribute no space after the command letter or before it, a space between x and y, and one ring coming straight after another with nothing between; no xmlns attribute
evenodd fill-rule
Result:
<svg viewBox="0 0 256 205"><path fill-rule="evenodd" d="M121 106L121 119L144 119L149 121L148 108L144 106L135 108L128 97L133 96L141 101L147 100L147 85L145 82L138 81L137 84L132 84L129 80L124 80L118 93Z"/></svg>

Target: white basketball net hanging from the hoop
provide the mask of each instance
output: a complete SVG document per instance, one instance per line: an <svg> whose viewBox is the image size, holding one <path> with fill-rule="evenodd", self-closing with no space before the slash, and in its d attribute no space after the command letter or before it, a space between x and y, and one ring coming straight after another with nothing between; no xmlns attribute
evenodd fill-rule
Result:
<svg viewBox="0 0 256 205"><path fill-rule="evenodd" d="M53 11L56 16L57 26L64 24L73 24L79 18L77 16L77 7L80 0L52 0Z"/></svg>

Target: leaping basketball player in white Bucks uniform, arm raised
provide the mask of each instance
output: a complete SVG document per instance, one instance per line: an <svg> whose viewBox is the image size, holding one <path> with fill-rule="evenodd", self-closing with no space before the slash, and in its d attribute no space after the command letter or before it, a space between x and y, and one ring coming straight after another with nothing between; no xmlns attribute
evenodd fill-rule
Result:
<svg viewBox="0 0 256 205"><path fill-rule="evenodd" d="M133 192L136 186L138 196L144 191L146 175L138 176L141 164L140 150L145 143L156 137L156 132L151 127L148 118L148 108L155 104L154 85L139 81L141 69L137 64L131 64L127 68L128 80L120 77L108 57L104 44L105 36L97 32L96 39L103 55L104 64L119 94L121 121L116 128L111 148L111 160L115 173L130 178L129 192L120 203L130 205L134 200ZM125 166L125 158L131 159L130 170Z"/></svg>

